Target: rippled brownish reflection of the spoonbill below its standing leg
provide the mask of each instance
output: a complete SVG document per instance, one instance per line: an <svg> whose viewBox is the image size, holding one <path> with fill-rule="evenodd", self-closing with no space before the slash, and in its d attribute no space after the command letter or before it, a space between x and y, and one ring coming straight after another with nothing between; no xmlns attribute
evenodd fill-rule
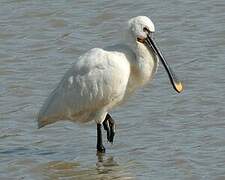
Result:
<svg viewBox="0 0 225 180"><path fill-rule="evenodd" d="M41 164L33 171L42 179L135 179L127 165L119 165L112 156L97 154L96 165L82 165L78 162L52 161Z"/></svg>

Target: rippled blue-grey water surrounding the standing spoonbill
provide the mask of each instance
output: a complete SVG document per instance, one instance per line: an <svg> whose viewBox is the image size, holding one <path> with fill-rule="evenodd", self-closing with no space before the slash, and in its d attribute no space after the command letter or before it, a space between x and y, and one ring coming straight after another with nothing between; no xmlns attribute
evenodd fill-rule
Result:
<svg viewBox="0 0 225 180"><path fill-rule="evenodd" d="M0 179L225 179L225 1L1 0ZM50 91L82 53L120 41L149 16L185 84L160 66L151 85L111 112L117 134L96 156L96 126L37 129ZM104 134L104 139L105 134Z"/></svg>

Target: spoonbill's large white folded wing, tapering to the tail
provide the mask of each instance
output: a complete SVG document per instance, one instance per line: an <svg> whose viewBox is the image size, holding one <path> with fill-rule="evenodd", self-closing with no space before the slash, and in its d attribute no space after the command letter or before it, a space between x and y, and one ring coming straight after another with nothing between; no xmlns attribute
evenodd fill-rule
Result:
<svg viewBox="0 0 225 180"><path fill-rule="evenodd" d="M129 75L130 66L123 53L90 50L67 71L47 98L39 113L39 125L43 119L51 123L103 107L110 108L122 100Z"/></svg>

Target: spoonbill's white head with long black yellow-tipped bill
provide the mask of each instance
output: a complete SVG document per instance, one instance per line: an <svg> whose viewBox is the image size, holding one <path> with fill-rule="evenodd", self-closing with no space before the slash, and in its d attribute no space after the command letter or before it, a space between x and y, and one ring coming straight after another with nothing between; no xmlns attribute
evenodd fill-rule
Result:
<svg viewBox="0 0 225 180"><path fill-rule="evenodd" d="M128 21L128 34L130 36L129 39L131 40L131 46L144 45L153 55L158 56L168 73L174 89L180 93L183 90L183 85L176 78L160 49L157 47L153 39L154 32L155 26L146 16L137 16Z"/></svg>

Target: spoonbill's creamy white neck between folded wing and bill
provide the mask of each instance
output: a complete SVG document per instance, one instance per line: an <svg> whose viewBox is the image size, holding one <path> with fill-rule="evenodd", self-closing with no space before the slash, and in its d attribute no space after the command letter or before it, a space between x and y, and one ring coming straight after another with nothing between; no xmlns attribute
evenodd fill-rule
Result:
<svg viewBox="0 0 225 180"><path fill-rule="evenodd" d="M135 83L145 85L151 80L158 67L158 58L145 45L137 44L134 49L136 60L131 69Z"/></svg>

